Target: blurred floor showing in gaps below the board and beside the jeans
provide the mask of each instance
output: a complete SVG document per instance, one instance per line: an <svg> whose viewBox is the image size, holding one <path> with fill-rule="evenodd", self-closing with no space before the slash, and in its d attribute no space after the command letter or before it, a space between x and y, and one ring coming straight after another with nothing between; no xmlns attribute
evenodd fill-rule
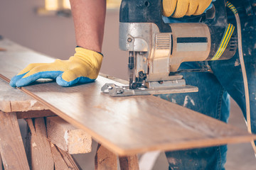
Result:
<svg viewBox="0 0 256 170"><path fill-rule="evenodd" d="M26 132L26 123L19 120L21 126L21 134L23 137ZM238 128L246 130L245 121L242 112L236 103L231 101L230 120L229 123ZM97 142L92 143L92 152L89 154L75 154L73 157L83 170L94 169L94 156L97 149ZM153 170L167 170L168 163L164 153L161 153L154 164ZM225 165L226 170L255 170L256 159L250 143L228 145L228 157ZM141 169L143 170L143 169Z"/></svg>

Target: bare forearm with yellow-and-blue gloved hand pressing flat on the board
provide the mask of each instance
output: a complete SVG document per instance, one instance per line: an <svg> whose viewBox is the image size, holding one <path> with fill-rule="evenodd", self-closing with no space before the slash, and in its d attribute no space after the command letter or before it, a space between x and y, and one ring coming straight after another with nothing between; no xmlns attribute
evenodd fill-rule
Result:
<svg viewBox="0 0 256 170"><path fill-rule="evenodd" d="M102 41L106 0L70 0L75 23L75 55L69 60L29 64L11 79L11 86L26 86L37 79L56 79L60 86L89 83L97 78L102 64Z"/></svg>

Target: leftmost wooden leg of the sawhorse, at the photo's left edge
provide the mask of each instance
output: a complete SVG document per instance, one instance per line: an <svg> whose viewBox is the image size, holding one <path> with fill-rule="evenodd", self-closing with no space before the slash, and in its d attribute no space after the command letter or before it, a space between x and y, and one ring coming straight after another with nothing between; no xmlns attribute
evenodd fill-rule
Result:
<svg viewBox="0 0 256 170"><path fill-rule="evenodd" d="M0 152L4 169L29 169L15 113L0 111Z"/></svg>

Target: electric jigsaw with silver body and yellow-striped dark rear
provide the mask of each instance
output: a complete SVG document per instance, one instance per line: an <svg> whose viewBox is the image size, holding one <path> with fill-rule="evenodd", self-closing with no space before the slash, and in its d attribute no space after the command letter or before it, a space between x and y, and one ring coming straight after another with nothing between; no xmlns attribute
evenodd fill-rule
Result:
<svg viewBox="0 0 256 170"><path fill-rule="evenodd" d="M102 91L111 96L198 91L196 86L186 85L179 73L208 69L178 70L180 64L228 60L238 48L235 26L228 24L225 0L212 4L203 15L185 18L200 22L165 23L161 0L122 0L119 48L129 52L129 85L105 84Z"/></svg>

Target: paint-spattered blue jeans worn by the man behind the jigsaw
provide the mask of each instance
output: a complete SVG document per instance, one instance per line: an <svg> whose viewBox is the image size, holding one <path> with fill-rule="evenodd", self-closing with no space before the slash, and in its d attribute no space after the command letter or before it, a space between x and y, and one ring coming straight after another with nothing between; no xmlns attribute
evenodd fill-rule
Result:
<svg viewBox="0 0 256 170"><path fill-rule="evenodd" d="M256 133L256 29L251 20L242 21L242 47L250 92L252 132ZM228 123L230 96L246 118L245 92L238 52L230 60L184 62L179 69L204 69L210 72L183 73L186 84L198 86L198 93L163 94L168 101ZM200 125L198 125L200 126ZM227 146L166 152L169 169L223 170Z"/></svg>

